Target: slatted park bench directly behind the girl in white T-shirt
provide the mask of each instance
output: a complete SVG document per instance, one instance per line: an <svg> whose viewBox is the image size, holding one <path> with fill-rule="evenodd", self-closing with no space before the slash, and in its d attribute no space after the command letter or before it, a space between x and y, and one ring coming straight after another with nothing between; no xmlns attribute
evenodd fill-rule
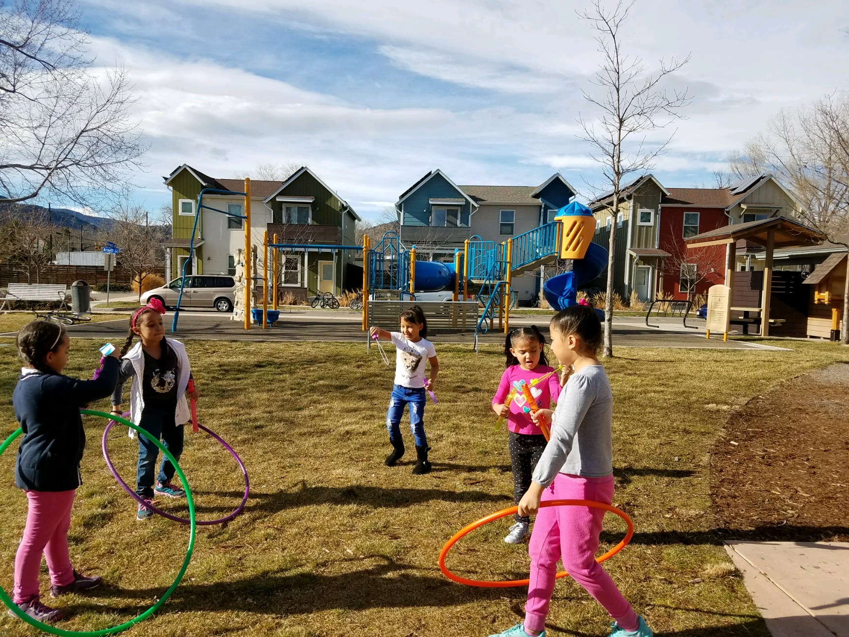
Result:
<svg viewBox="0 0 849 637"><path fill-rule="evenodd" d="M475 352L478 351L477 301L369 301L368 325L377 325L387 331L398 330L398 315L410 306L418 305L427 318L428 340L431 335L469 334L475 336ZM366 333L367 350L371 338Z"/></svg>

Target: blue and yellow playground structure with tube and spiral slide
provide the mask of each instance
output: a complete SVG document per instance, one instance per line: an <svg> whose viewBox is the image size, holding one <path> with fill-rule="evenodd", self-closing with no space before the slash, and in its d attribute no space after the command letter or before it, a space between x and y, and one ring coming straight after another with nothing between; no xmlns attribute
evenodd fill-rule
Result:
<svg viewBox="0 0 849 637"><path fill-rule="evenodd" d="M546 280L543 296L559 311L576 304L576 293L607 267L607 251L593 244L593 212L577 202L558 211L552 223L545 223L512 239L496 243L472 237L464 251L454 251L454 262L416 261L416 247L409 250L398 235L387 232L374 245L363 238L363 330L368 329L368 303L377 300L416 301L417 292L452 290L452 302L468 302L472 287L484 304L475 333L498 327L506 333L510 321L510 282L514 276L548 265L557 259L571 259L571 272ZM444 303L448 310L450 302Z"/></svg>

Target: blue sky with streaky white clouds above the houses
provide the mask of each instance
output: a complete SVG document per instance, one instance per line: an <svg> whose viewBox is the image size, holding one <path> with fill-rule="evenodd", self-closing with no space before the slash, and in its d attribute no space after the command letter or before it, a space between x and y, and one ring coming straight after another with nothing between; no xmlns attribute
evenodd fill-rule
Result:
<svg viewBox="0 0 849 637"><path fill-rule="evenodd" d="M576 138L598 65L587 3L479 0L81 0L98 65L123 65L150 144L136 199L170 202L183 163L230 178L306 164L377 219L424 172L457 183L542 183L559 170L584 198L600 170ZM713 183L728 153L794 108L849 89L849 8L819 3L640 0L627 51L694 101L653 171Z"/></svg>

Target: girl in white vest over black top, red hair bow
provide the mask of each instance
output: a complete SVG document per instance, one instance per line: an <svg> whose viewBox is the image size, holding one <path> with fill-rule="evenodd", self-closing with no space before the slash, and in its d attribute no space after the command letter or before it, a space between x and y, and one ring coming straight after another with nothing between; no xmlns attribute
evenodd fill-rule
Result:
<svg viewBox="0 0 849 637"><path fill-rule="evenodd" d="M187 394L191 366L183 343L167 339L162 315L165 307L158 299L140 307L130 318L127 341L121 348L121 374L112 394L112 413L121 414L121 394L124 383L132 378L130 388L130 420L162 440L171 454L179 460L183 453L183 425L191 420L188 401L196 400L198 392ZM130 348L136 336L139 342ZM154 495L183 498L185 492L174 485L174 465L163 458L154 486L154 474L159 448L145 436L138 437L136 493L151 504ZM148 506L138 505L137 520L153 516Z"/></svg>

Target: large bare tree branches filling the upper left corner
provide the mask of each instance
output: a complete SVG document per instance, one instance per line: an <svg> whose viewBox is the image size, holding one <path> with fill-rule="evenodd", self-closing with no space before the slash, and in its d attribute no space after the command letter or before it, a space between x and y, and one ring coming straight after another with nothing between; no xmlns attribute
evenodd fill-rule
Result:
<svg viewBox="0 0 849 637"><path fill-rule="evenodd" d="M98 79L88 44L71 0L0 0L0 201L98 208L141 166L127 72Z"/></svg>

